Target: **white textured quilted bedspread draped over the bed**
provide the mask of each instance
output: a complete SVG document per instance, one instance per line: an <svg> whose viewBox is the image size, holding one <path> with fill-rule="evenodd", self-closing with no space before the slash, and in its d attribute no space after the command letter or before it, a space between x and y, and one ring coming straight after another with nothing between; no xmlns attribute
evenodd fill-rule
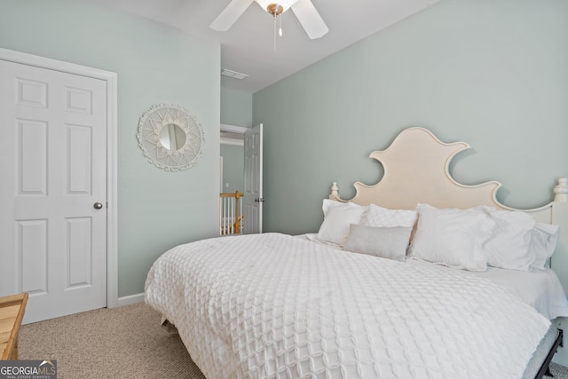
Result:
<svg viewBox="0 0 568 379"><path fill-rule="evenodd" d="M519 378L549 326L490 280L278 233L171 249L146 303L211 379Z"/></svg>

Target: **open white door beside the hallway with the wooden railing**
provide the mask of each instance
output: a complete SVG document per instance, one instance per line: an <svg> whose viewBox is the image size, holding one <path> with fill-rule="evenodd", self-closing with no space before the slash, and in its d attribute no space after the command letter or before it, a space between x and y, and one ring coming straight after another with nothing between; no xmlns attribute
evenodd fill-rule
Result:
<svg viewBox="0 0 568 379"><path fill-rule="evenodd" d="M263 233L263 124L245 131L243 233Z"/></svg>

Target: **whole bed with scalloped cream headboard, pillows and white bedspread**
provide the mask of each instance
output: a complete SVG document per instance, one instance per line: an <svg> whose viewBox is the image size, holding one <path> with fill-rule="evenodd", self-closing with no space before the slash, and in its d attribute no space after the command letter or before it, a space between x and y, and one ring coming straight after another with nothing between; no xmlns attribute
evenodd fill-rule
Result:
<svg viewBox="0 0 568 379"><path fill-rule="evenodd" d="M378 184L345 201L334 183L318 233L177 246L145 301L211 379L541 377L568 316L549 267L565 255L568 182L548 205L510 209L498 182L451 177L468 147L403 130L371 154Z"/></svg>

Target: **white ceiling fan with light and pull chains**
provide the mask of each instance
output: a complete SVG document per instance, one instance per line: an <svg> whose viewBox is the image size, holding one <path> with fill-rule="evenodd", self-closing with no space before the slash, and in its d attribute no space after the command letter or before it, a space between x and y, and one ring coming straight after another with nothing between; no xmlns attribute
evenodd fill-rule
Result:
<svg viewBox="0 0 568 379"><path fill-rule="evenodd" d="M218 31L228 30L247 10L248 6L254 2L259 4L266 12L272 14L274 20L281 13L292 9L305 32L312 39L324 36L329 31L311 0L232 0L217 16L217 19L211 22L209 28Z"/></svg>

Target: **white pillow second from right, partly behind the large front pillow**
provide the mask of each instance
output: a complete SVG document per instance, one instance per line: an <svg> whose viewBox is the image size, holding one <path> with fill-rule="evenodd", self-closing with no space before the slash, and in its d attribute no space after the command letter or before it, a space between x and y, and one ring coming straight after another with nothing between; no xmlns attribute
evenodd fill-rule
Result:
<svg viewBox="0 0 568 379"><path fill-rule="evenodd" d="M536 221L525 212L480 207L493 218L495 227L485 243L487 265L508 270L528 271L535 253L531 235Z"/></svg>

